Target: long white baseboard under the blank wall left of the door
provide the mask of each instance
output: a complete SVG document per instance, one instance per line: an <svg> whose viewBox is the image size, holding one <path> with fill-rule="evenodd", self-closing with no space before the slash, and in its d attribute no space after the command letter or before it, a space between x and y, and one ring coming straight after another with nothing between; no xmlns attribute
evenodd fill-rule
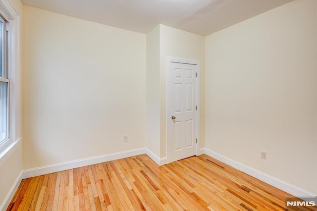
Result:
<svg viewBox="0 0 317 211"><path fill-rule="evenodd" d="M101 162L106 162L115 159L128 158L131 156L138 156L145 154L144 148L128 150L118 153L111 153L103 156L95 156L91 158L77 159L68 162L61 162L52 165L45 165L36 168L29 168L22 170L22 179L49 174L57 171L64 171L72 168L83 167L86 165L93 165Z"/></svg>

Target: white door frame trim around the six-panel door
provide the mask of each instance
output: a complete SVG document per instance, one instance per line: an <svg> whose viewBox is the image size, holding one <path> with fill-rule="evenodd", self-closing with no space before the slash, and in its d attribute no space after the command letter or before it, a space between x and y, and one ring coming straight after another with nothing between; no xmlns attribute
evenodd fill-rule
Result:
<svg viewBox="0 0 317 211"><path fill-rule="evenodd" d="M197 65L197 74L198 77L196 77L196 105L198 107L197 112L196 112L196 137L197 137L197 144L196 144L196 156L200 155L199 150L200 150L200 62L198 60L191 60L191 59L184 59L184 58L177 58L177 57L171 57L171 56L166 56L166 162L170 163L170 153L171 153L171 142L170 138L168 137L168 127L171 124L170 121L170 113L168 109L168 102L169 99L171 98L170 93L168 91L168 87L171 86L172 80L170 80L170 63L175 62L175 63L183 63L183 64L194 64Z"/></svg>

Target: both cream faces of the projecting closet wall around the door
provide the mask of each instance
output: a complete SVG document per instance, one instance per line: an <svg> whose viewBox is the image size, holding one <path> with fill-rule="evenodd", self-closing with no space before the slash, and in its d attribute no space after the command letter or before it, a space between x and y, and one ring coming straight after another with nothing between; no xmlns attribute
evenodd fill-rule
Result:
<svg viewBox="0 0 317 211"><path fill-rule="evenodd" d="M205 136L205 38L159 25L147 35L147 129L146 147L166 157L166 57L198 60L201 64L201 147Z"/></svg>

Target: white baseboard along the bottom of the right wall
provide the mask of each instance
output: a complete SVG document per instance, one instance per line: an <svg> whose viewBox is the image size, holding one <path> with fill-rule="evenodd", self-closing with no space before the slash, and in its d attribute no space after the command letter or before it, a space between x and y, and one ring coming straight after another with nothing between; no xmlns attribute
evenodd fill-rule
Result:
<svg viewBox="0 0 317 211"><path fill-rule="evenodd" d="M280 179L272 177L268 174L265 174L257 169L254 169L254 168L247 166L243 163L235 161L231 158L227 158L223 155L220 155L220 154L213 152L213 151L206 149L206 148L204 149L204 151L205 151L206 155L209 155L212 158L215 158L221 162L224 162L224 163L230 165L231 167L234 167L234 168L236 168L236 169L238 169L246 174L249 174L249 175L251 175L251 176L253 176L253 177L255 177L255 178L257 178L257 179L259 179L259 180L261 180L261 181L263 181L263 182L265 182L265 183L267 183L275 188L278 188L282 191L285 191L286 193L289 193L293 196L296 196L298 198L302 198L303 200L305 197L316 197L316 195L313 193L310 193L310 192L305 191L305 190L303 190L299 187L296 187L292 184L289 184L289 183L284 182Z"/></svg>

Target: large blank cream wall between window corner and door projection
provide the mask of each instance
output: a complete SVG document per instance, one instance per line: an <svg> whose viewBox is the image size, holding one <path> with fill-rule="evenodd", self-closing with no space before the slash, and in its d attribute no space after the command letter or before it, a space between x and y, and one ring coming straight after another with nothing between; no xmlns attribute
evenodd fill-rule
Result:
<svg viewBox="0 0 317 211"><path fill-rule="evenodd" d="M28 6L23 23L23 169L144 148L146 35Z"/></svg>

